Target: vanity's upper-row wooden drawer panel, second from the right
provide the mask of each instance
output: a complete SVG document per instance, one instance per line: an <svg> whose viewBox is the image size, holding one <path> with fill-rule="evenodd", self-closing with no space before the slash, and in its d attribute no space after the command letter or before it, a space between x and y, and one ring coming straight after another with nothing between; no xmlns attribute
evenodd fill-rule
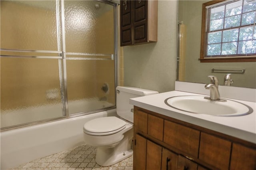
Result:
<svg viewBox="0 0 256 170"><path fill-rule="evenodd" d="M228 169L231 142L201 132L199 159L219 168Z"/></svg>

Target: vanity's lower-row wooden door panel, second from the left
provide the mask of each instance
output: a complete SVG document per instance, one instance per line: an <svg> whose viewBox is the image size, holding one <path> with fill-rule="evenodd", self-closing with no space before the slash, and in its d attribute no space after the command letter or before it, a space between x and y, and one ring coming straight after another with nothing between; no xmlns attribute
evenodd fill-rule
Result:
<svg viewBox="0 0 256 170"><path fill-rule="evenodd" d="M147 170L161 170L162 147L147 140Z"/></svg>

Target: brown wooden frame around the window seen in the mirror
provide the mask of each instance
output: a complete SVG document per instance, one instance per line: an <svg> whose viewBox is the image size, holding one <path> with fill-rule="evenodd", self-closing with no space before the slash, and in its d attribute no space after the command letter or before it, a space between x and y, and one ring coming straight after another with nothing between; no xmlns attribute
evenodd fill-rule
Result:
<svg viewBox="0 0 256 170"><path fill-rule="evenodd" d="M205 57L204 49L205 49L205 39L206 39L206 6L214 5L219 2L223 2L226 0L212 0L202 4L202 26L201 26L201 47L200 47L200 62L201 63L210 63L210 62L255 62L255 55L240 55L240 56L226 56L226 57Z"/></svg>

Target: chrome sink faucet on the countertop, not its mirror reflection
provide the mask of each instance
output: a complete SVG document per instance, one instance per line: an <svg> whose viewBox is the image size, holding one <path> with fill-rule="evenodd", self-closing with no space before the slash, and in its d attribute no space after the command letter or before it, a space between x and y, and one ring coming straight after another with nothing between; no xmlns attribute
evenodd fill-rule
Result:
<svg viewBox="0 0 256 170"><path fill-rule="evenodd" d="M210 89L210 100L219 101L220 100L220 92L218 90L219 81L218 81L217 77L215 77L213 75L209 75L208 77L210 77L211 83L206 84L204 87L206 89Z"/></svg>

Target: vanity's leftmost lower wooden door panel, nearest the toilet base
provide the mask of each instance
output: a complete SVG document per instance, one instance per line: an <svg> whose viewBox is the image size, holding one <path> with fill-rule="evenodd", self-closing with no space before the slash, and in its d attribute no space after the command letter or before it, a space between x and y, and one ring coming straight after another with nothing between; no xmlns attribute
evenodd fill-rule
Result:
<svg viewBox="0 0 256 170"><path fill-rule="evenodd" d="M136 134L134 141L133 154L133 169L146 170L146 138Z"/></svg>

